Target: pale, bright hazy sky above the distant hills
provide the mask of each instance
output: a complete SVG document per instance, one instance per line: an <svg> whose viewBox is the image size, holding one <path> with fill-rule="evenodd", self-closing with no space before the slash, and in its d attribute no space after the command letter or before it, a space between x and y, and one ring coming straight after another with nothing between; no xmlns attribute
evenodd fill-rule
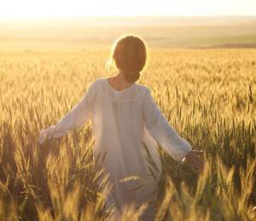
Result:
<svg viewBox="0 0 256 221"><path fill-rule="evenodd" d="M256 0L2 0L0 18L256 15Z"/></svg>

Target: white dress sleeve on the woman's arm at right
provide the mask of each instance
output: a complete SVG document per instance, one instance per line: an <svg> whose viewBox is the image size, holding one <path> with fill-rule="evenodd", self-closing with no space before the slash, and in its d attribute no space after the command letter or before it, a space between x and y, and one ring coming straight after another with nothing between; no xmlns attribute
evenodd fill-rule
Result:
<svg viewBox="0 0 256 221"><path fill-rule="evenodd" d="M179 137L166 117L161 113L160 108L154 102L151 90L146 90L143 100L143 121L150 135L155 141L166 150L176 161L183 160L183 157L192 149L189 142Z"/></svg>

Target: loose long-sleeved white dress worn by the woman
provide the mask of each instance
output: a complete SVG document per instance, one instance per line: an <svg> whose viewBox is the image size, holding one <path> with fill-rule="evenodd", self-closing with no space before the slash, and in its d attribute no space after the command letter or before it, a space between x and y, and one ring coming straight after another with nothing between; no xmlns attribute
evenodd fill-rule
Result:
<svg viewBox="0 0 256 221"><path fill-rule="evenodd" d="M141 205L149 198L156 199L151 193L157 189L162 172L157 143L177 161L191 150L189 142L179 137L169 125L148 87L134 83L119 91L103 78L91 83L81 101L60 121L41 131L38 142L65 136L88 119L92 120L95 137L94 157L107 151L102 167L113 183L107 205L114 203L119 211L126 202ZM148 153L158 170L148 163ZM120 181L131 176L138 179ZM153 220L149 218L152 211L148 206L143 220Z"/></svg>

